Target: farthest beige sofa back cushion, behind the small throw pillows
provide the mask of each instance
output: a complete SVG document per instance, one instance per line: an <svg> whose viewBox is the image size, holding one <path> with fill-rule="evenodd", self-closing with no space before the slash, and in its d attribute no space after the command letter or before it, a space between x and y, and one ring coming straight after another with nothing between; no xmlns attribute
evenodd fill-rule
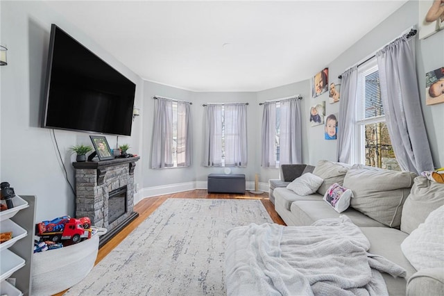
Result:
<svg viewBox="0 0 444 296"><path fill-rule="evenodd" d="M318 188L320 195L325 195L327 189L334 183L342 186L345 173L352 167L346 163L334 163L333 161L318 161L318 164L313 170L313 174L321 177L324 181Z"/></svg>

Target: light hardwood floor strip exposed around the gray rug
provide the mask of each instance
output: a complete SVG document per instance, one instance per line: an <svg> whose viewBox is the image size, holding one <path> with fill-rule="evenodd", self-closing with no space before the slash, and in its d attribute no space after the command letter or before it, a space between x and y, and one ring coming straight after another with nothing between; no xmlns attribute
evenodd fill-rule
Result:
<svg viewBox="0 0 444 296"><path fill-rule="evenodd" d="M260 199L266 211L270 215L273 222L277 224L285 225L278 213L275 212L274 205L268 199L268 192L264 192L262 195L253 195L252 193L246 191L245 195L235 195L235 194L221 194L221 193L208 193L207 190L191 190L185 192L178 192L172 195L160 195L157 197L148 197L142 199L141 202L135 205L134 211L139 213L139 217L128 224L122 231L117 233L114 238L109 240L103 247L99 249L99 254L97 254L96 263L99 263L106 255L108 255L114 247L117 247L119 243L128 236L140 223L142 223L146 217L151 215L164 201L169 198L191 198L191 199ZM65 291L56 294L56 296L63 295Z"/></svg>

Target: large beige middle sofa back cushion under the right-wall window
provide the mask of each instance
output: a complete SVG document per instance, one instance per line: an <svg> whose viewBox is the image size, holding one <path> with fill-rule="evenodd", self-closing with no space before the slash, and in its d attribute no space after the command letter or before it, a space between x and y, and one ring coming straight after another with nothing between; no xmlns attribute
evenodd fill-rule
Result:
<svg viewBox="0 0 444 296"><path fill-rule="evenodd" d="M415 176L412 172L353 167L343 186L353 192L350 206L388 227L400 227L402 206Z"/></svg>

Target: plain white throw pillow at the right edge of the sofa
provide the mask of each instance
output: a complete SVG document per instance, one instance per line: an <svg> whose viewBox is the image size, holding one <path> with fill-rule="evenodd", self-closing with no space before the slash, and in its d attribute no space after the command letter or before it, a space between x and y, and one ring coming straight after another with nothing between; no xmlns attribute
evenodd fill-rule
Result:
<svg viewBox="0 0 444 296"><path fill-rule="evenodd" d="M444 268L443 228L444 206L440 206L402 242L402 253L416 270Z"/></svg>

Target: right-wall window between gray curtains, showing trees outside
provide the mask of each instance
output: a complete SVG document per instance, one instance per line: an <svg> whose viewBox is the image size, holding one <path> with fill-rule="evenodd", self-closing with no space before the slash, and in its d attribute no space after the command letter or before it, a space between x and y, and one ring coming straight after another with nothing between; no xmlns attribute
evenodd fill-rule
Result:
<svg viewBox="0 0 444 296"><path fill-rule="evenodd" d="M401 170L388 135L376 59L359 67L357 96L357 162Z"/></svg>

